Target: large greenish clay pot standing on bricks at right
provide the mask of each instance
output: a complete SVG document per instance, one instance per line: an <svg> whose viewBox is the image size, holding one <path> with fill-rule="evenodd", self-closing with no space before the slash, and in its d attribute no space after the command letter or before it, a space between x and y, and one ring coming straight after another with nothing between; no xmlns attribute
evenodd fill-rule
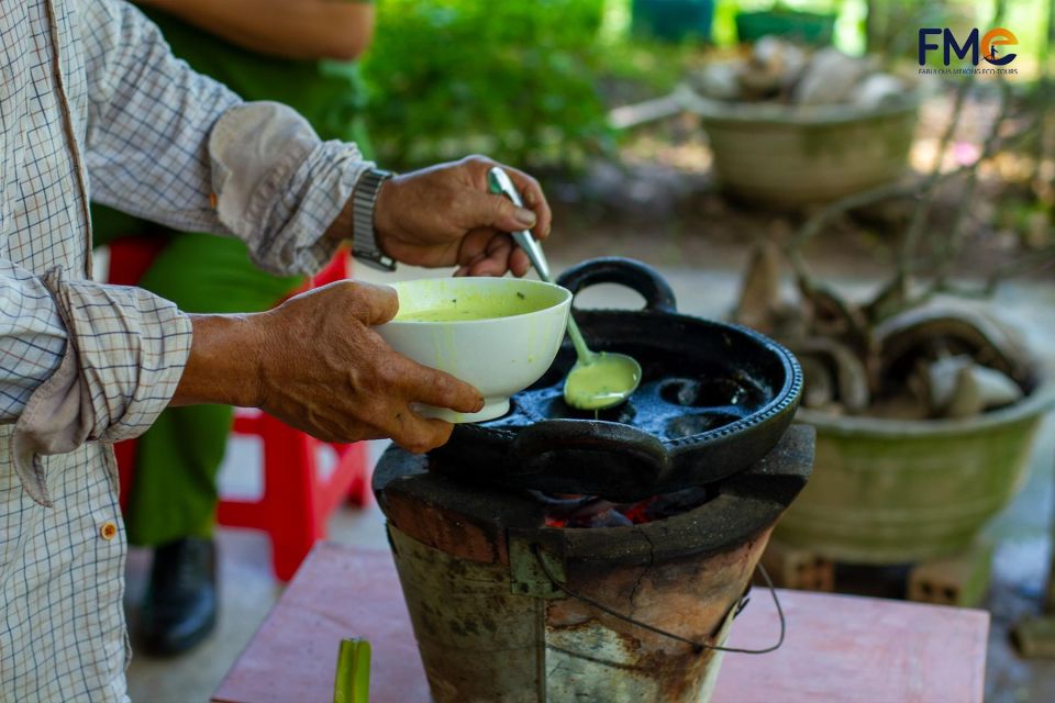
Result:
<svg viewBox="0 0 1055 703"><path fill-rule="evenodd" d="M966 420L835 417L817 428L813 478L774 535L830 559L907 563L965 550L1022 488L1034 438L1055 401L1042 386Z"/></svg>

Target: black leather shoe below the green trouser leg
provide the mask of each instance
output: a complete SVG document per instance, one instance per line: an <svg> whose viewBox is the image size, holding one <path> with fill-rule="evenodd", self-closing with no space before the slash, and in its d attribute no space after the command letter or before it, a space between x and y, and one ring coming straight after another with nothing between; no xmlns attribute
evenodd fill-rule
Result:
<svg viewBox="0 0 1055 703"><path fill-rule="evenodd" d="M216 547L188 537L154 550L151 585L140 617L144 649L153 655L187 651L216 625Z"/></svg>

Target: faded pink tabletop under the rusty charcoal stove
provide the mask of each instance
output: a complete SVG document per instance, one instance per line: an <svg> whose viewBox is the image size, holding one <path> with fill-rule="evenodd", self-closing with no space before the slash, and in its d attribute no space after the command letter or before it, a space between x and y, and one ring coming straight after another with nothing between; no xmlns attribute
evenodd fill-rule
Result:
<svg viewBox="0 0 1055 703"><path fill-rule="evenodd" d="M989 614L900 601L779 591L788 635L777 651L725 655L713 703L981 703ZM734 647L778 632L756 589ZM391 556L320 543L308 556L214 703L330 703L337 643L374 648L371 703L429 701Z"/></svg>

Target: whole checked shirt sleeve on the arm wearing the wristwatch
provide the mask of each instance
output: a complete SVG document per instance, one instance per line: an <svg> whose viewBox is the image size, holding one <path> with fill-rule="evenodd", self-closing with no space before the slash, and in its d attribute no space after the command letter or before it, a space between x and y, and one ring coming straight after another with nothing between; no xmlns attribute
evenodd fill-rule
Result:
<svg viewBox="0 0 1055 703"><path fill-rule="evenodd" d="M93 200L181 231L233 234L277 274L310 274L322 236L371 164L297 112L244 103L173 56L137 9L81 3L86 163Z"/></svg>

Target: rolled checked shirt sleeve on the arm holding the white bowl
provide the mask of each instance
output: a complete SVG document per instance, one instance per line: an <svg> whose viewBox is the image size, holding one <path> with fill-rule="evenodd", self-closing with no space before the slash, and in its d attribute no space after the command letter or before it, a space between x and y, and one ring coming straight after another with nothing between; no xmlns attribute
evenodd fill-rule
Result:
<svg viewBox="0 0 1055 703"><path fill-rule="evenodd" d="M190 320L138 288L35 277L0 259L0 423L26 492L49 505L41 455L142 434L190 354Z"/></svg>

